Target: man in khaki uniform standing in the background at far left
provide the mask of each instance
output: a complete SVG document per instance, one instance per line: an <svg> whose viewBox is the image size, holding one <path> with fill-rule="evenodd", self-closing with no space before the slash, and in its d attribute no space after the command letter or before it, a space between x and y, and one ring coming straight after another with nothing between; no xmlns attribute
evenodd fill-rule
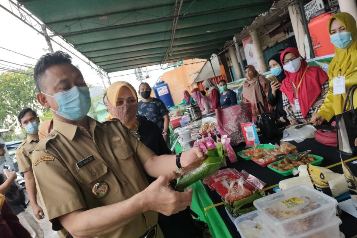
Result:
<svg viewBox="0 0 357 238"><path fill-rule="evenodd" d="M24 173L25 185L27 193L29 194L30 205L34 211L37 219L44 218L42 208L37 204L37 191L34 173L31 166L31 155L35 150L35 146L39 142L39 117L37 113L31 108L24 108L21 110L17 119L20 126L27 132L27 138L16 149L16 159L19 166L19 172ZM21 224L30 232L32 237L44 237L39 223L28 212L20 213L19 217Z"/></svg>

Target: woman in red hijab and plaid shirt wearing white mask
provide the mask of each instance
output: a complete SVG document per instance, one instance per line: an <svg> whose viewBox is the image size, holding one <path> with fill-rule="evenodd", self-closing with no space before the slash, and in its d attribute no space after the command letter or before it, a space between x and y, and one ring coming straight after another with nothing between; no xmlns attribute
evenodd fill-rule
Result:
<svg viewBox="0 0 357 238"><path fill-rule="evenodd" d="M292 126L310 122L325 100L328 76L318 66L307 66L296 48L284 50L280 59L286 75L280 91L287 118Z"/></svg>

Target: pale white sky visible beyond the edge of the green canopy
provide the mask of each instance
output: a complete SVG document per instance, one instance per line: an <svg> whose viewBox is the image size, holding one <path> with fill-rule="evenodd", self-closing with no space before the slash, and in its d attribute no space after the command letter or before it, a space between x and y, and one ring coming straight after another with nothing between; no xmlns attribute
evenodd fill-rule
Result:
<svg viewBox="0 0 357 238"><path fill-rule="evenodd" d="M9 1L7 0L0 0L0 4L5 6L7 9L10 9ZM64 41L61 41L63 44ZM11 15L4 9L0 8L0 47L19 52L23 55L30 56L25 57L14 52L10 52L0 48L0 66L7 67L7 68L17 68L21 66L17 66L14 64L10 64L8 62L25 65L25 66L34 66L36 64L36 59L38 59L41 55L48 53L47 50L47 43L45 38L38 34L35 30L33 30L30 26L27 26L24 22L17 19L15 16ZM61 47L55 43L52 43L53 50L62 50L66 51L65 49L61 49ZM66 45L68 49L69 46ZM73 48L70 48L72 52L77 52ZM80 53L77 53L82 59ZM90 83L95 86L102 86L103 83L98 75L97 71L93 70L89 65L87 65L82 60L78 59L78 57L72 56L72 62L75 66L79 67L81 70L84 79L87 83ZM34 58L34 59L32 59ZM1 60L5 60L8 62L4 62ZM9 67L10 66L10 67ZM165 67L165 65L164 65ZM22 69L26 69L26 67L21 67ZM149 72L150 78L145 80L149 83L150 86L154 86L155 82L159 79L159 77L168 70L162 70L160 65L149 66L144 69L153 70ZM169 69L171 70L171 69ZM0 71L1 73L2 71ZM128 75L130 74L130 75ZM125 76L121 76L125 75ZM109 74L110 81L127 81L130 82L135 88L139 87L140 82L136 80L134 69L132 70L125 70L119 72L113 72ZM105 86L108 87L107 79L104 79Z"/></svg>

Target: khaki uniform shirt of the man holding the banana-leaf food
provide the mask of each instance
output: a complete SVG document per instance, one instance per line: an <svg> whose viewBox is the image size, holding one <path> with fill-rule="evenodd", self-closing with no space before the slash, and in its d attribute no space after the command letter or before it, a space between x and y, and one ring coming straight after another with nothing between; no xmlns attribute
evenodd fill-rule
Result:
<svg viewBox="0 0 357 238"><path fill-rule="evenodd" d="M37 190L54 230L62 228L57 219L62 215L124 201L148 186L143 165L154 152L119 121L100 123L90 117L88 121L90 133L54 120L53 130L32 155ZM100 182L107 183L109 191L96 198L92 188ZM157 212L147 211L100 237L136 238L156 224ZM159 234L156 237L162 237Z"/></svg>

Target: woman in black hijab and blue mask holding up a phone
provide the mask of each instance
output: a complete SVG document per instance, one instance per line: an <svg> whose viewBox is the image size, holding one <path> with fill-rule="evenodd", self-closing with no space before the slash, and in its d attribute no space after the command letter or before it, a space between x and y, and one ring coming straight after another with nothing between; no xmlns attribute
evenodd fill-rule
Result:
<svg viewBox="0 0 357 238"><path fill-rule="evenodd" d="M286 117L286 112L283 108L283 93L279 90L281 83L286 78L285 72L282 69L283 65L280 61L280 54L275 54L269 59L270 72L272 77L268 77L269 91L268 91L268 103L271 106L276 106L275 120L278 122L289 122ZM288 123L290 124L290 123Z"/></svg>

